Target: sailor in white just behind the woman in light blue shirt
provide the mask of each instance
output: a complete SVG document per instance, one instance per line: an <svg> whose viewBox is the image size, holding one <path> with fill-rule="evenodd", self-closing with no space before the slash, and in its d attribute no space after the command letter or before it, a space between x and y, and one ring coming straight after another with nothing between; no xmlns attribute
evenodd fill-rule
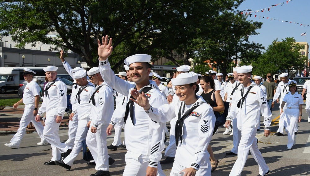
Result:
<svg viewBox="0 0 310 176"><path fill-rule="evenodd" d="M274 102L276 102L276 101L277 101L277 103L282 102L284 95L289 92L289 87L288 87L287 83L290 81L290 79L288 79L288 73L282 73L279 76L280 76L280 79L282 81L278 84L276 93L273 96L271 107L274 107ZM278 100L279 96L280 96L280 100ZM279 109L280 108L281 108L281 103L280 103ZM284 108L283 108L283 111L285 111L285 110L286 110L286 106L284 106ZM287 124L286 118L284 118L283 115L280 115L279 128L277 130L277 133L275 133L274 135L283 136L283 127L287 128L284 124ZM296 125L297 125L297 123L296 123ZM297 128L296 128L296 131L297 131Z"/></svg>

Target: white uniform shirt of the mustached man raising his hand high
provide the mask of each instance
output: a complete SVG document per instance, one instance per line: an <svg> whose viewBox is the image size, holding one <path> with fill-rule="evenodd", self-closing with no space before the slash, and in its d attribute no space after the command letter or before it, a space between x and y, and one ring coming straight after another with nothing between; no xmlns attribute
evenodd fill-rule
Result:
<svg viewBox="0 0 310 176"><path fill-rule="evenodd" d="M128 97L131 96L130 92L135 88L135 83L127 82L115 76L108 60L99 61L99 70L108 85L114 88L118 93ZM145 95L148 97L151 105L159 107L162 104L168 103L166 97L160 93L154 81L150 80L149 86L153 86L154 88L148 91ZM159 160L162 158L161 152L165 148L164 137L166 123L154 122L149 118L145 118L146 115L147 113L143 108L135 103L134 122L131 122L129 114L125 123L126 149L132 153L148 156L148 166L157 167ZM127 163L126 161L126 165L129 164L130 163ZM158 169L158 171L160 170L161 168ZM126 172L127 170L125 166L124 173Z"/></svg>

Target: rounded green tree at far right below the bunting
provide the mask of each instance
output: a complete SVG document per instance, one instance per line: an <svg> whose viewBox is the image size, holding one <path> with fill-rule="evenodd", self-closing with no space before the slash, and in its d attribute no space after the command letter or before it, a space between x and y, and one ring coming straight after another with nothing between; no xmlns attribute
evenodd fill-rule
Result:
<svg viewBox="0 0 310 176"><path fill-rule="evenodd" d="M290 70L303 69L307 57L300 54L303 46L295 43L293 37L273 40L259 59L254 63L253 73L266 75L267 73L278 74Z"/></svg>

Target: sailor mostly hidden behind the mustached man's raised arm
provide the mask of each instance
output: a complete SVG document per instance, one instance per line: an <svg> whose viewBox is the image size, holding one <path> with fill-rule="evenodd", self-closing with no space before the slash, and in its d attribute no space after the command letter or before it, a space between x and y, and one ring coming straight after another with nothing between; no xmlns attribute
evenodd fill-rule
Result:
<svg viewBox="0 0 310 176"><path fill-rule="evenodd" d="M127 73L125 71L123 72L118 72L118 77L127 81ZM122 118L125 115L125 108L127 104L127 96L124 96L118 92L115 93L115 104L116 108L113 112L112 119L119 119L119 121L113 121L113 123L110 122L114 126L114 141L111 145L108 146L109 150L117 150L117 146L122 145L121 141L121 133L122 133L122 128L124 128L124 121ZM111 121L112 121L111 119ZM117 123L118 122L118 123ZM125 142L123 143L125 145Z"/></svg>

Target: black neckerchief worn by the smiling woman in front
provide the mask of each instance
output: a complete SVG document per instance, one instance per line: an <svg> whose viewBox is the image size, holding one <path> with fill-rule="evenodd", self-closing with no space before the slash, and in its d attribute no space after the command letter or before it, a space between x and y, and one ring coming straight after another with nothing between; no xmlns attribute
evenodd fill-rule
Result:
<svg viewBox="0 0 310 176"><path fill-rule="evenodd" d="M196 109L198 106L205 104L206 102L196 102L192 108L190 108L189 110L187 110L184 113L184 109L185 109L185 102L183 101L181 103L181 107L179 109L179 114L178 114L178 120L175 123L175 145L179 145L179 138L180 141L182 143L182 130L183 130L183 123L184 123L184 119L186 117L188 117L194 109Z"/></svg>

